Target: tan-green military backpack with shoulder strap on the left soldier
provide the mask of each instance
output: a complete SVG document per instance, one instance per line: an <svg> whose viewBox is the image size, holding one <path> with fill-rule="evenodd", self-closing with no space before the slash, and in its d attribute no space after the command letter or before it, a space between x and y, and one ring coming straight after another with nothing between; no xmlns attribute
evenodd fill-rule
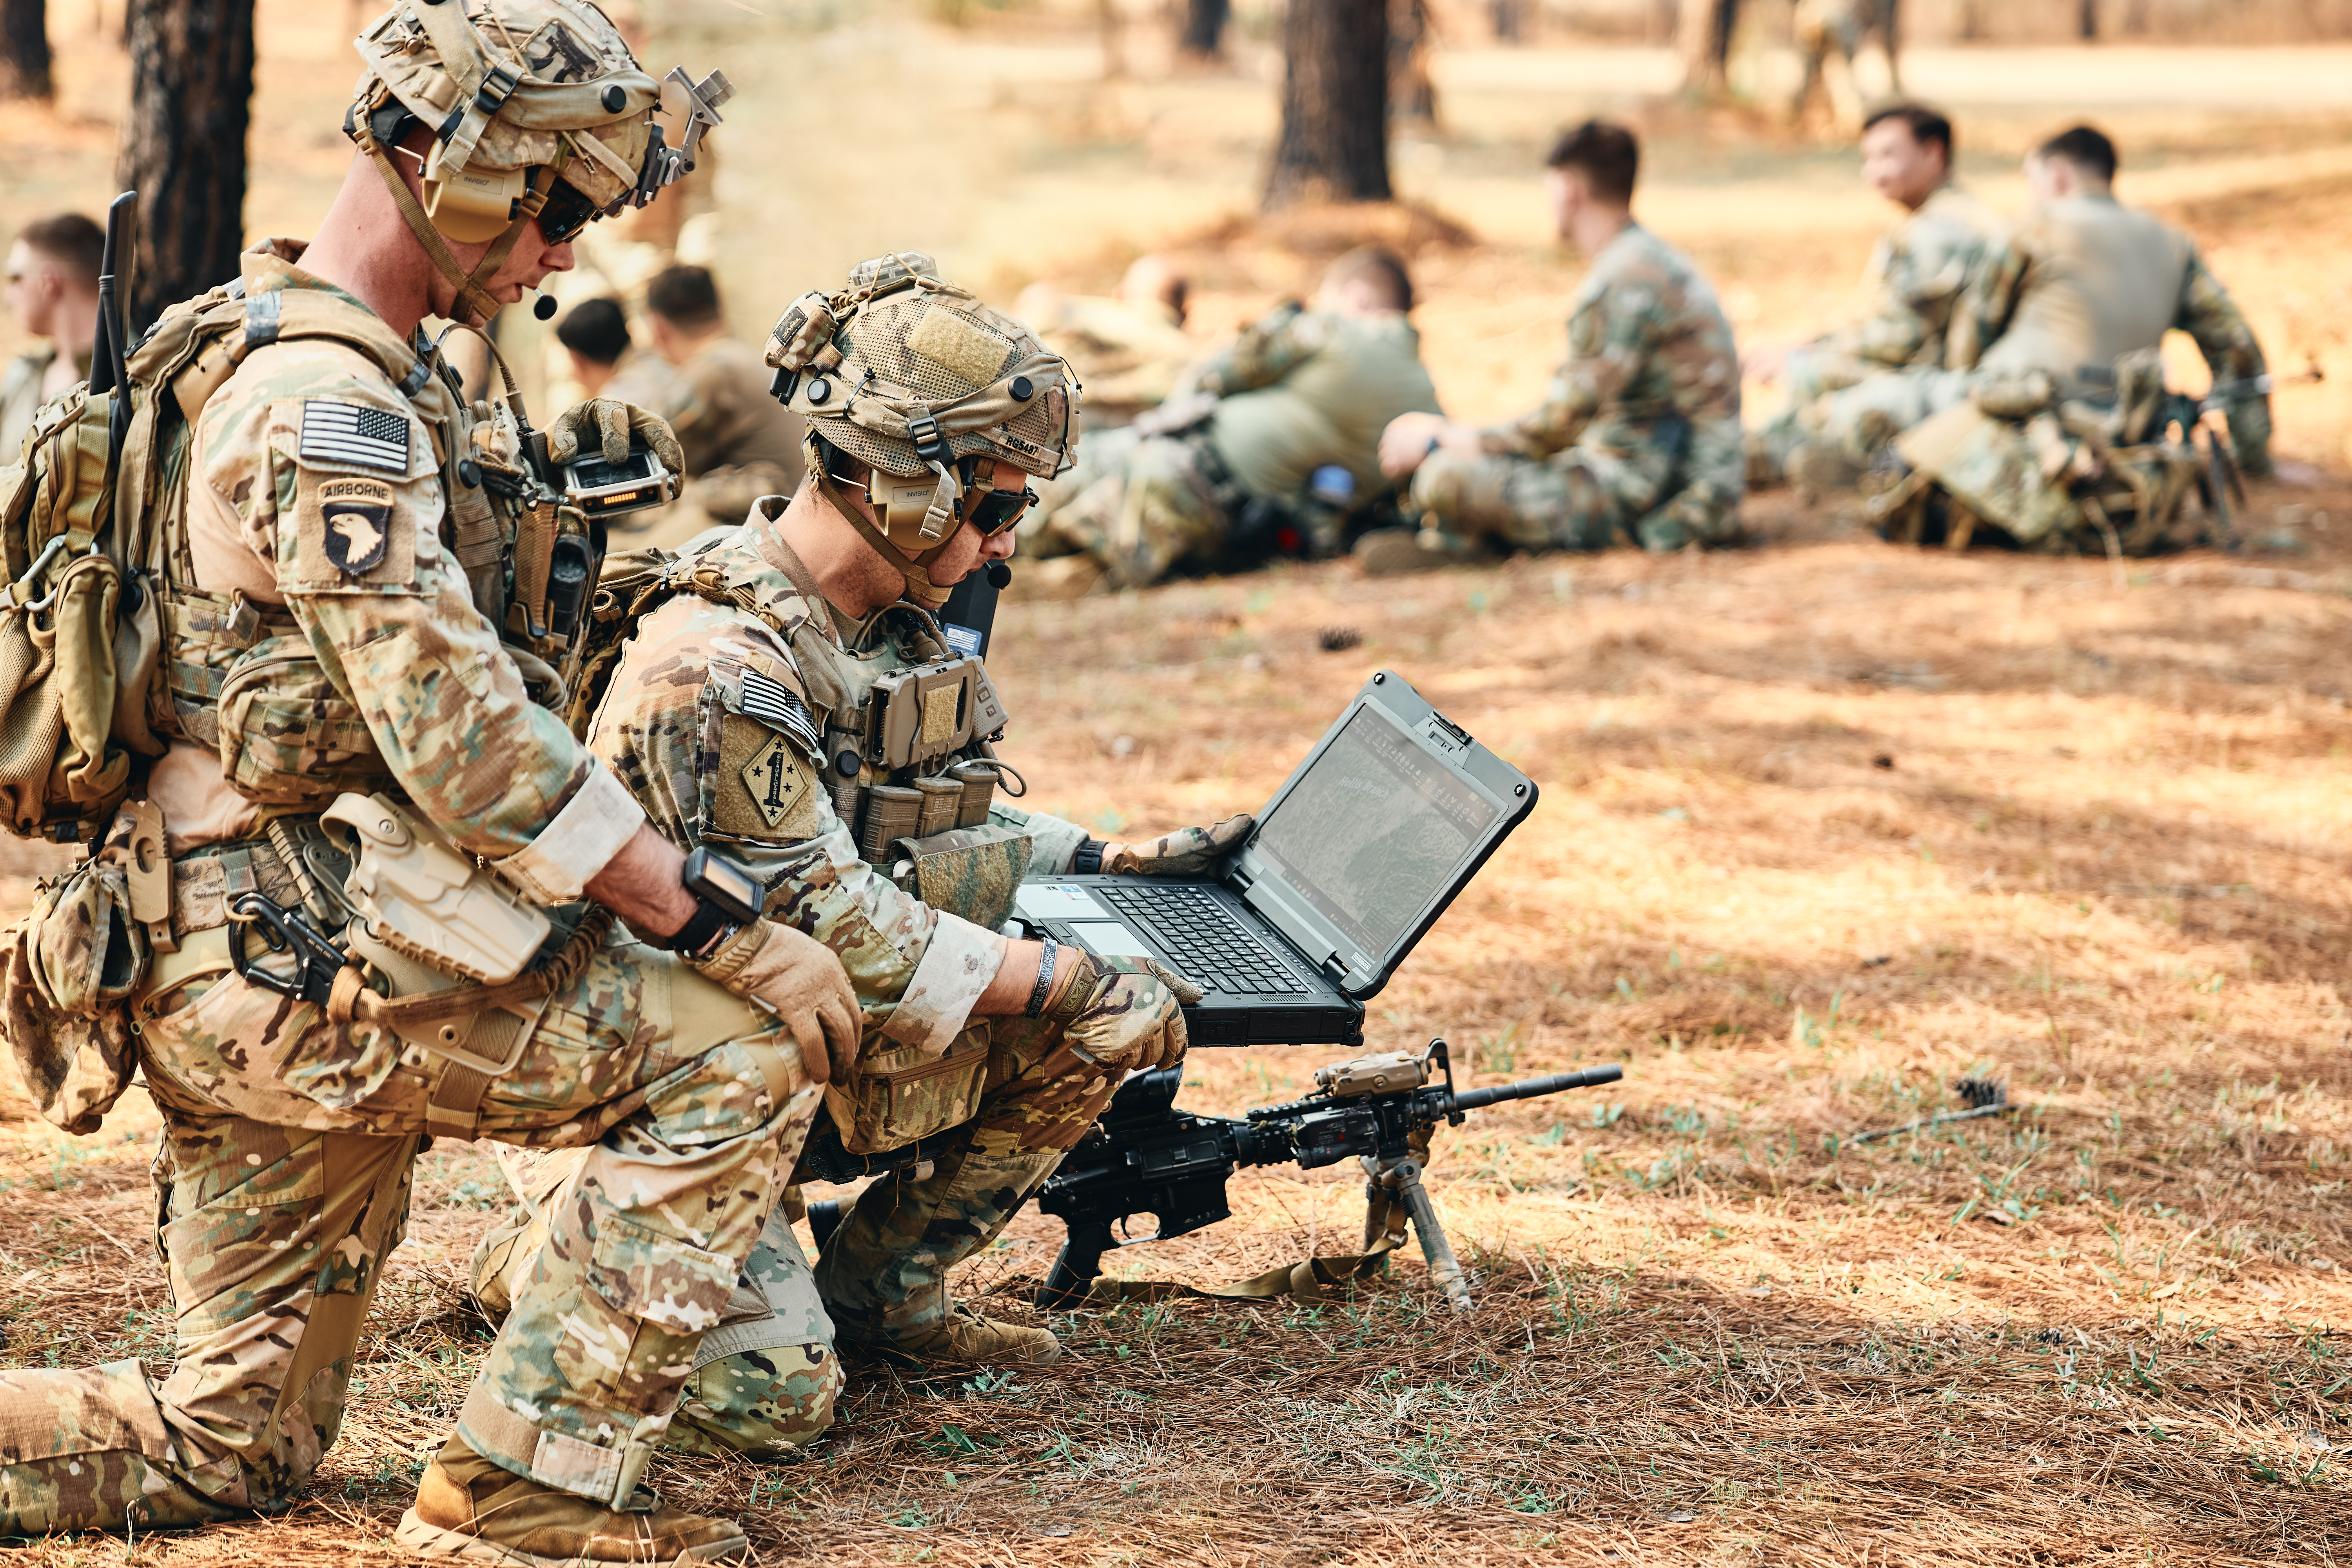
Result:
<svg viewBox="0 0 2352 1568"><path fill-rule="evenodd" d="M252 348L301 336L346 343L416 393L426 362L362 315L278 289L247 299L238 280L167 310L127 355L125 386L92 395L85 383L40 409L16 461L0 468L0 827L96 842L143 778L143 759L174 738L219 743L207 722L219 670L167 661L167 625L174 642L216 632L212 663L223 663L292 621L193 588L195 418ZM230 623L254 625L230 635Z"/></svg>

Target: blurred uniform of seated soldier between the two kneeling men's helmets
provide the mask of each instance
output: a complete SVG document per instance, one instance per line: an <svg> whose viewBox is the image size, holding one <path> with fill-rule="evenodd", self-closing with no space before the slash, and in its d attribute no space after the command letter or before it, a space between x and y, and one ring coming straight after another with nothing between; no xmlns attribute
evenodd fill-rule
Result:
<svg viewBox="0 0 2352 1568"><path fill-rule="evenodd" d="M680 545L710 524L741 522L760 496L800 487L800 416L776 404L769 381L760 350L729 336L677 367L644 407L670 421L687 449L687 484L670 508L623 517L623 545ZM607 395L630 400L626 390Z"/></svg>

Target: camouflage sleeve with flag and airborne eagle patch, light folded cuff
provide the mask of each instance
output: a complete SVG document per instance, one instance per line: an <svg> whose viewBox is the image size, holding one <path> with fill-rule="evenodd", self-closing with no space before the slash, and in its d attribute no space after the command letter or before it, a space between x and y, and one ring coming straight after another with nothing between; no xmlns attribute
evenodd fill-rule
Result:
<svg viewBox="0 0 2352 1568"><path fill-rule="evenodd" d="M475 611L409 402L358 355L278 346L207 404L198 451L409 802L534 900L579 898L644 816Z"/></svg>

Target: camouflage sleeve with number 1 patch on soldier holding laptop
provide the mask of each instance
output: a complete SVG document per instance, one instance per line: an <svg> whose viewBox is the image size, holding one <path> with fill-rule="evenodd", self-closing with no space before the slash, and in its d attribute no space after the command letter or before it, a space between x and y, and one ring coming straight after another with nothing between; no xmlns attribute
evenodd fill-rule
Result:
<svg viewBox="0 0 2352 1568"><path fill-rule="evenodd" d="M637 628L588 743L666 839L748 865L769 884L771 919L840 954L870 1030L946 1051L1004 943L866 865L814 738L760 717L800 701L797 668L764 623L680 595Z"/></svg>

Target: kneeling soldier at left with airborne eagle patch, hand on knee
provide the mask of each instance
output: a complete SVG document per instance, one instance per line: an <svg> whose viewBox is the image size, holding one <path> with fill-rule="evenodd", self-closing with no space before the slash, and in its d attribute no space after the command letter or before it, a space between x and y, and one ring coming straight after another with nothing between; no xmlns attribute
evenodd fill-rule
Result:
<svg viewBox="0 0 2352 1568"><path fill-rule="evenodd" d="M442 1135L586 1157L397 1540L452 1561L734 1556L731 1521L668 1509L640 1479L776 1204L828 1051L856 1048L856 1001L828 947L741 922L713 882L689 882L628 788L534 698L546 665L499 635L506 541L553 505L515 501L520 407L477 421L419 331L426 315L487 322L572 263L579 228L677 165L654 134L654 80L588 5L402 0L358 49L360 153L320 240L249 252L242 289L200 301L233 313L235 348L202 360L219 381L186 508L155 524L181 531L165 559L191 562L155 588L176 738L148 797L169 832L174 945L129 1006L165 1119L176 1363L160 1385L136 1361L0 1373L0 1535L285 1509L336 1436L414 1159ZM548 451L619 458L630 435L675 456L656 418L614 402L553 421ZM235 686L252 701L230 705ZM539 994L459 1030L463 1051L365 1011L379 1001L350 980L463 985L381 945L334 971L325 1004L247 978L261 971L238 959L233 903L238 919L261 917L256 898L275 919L327 907L306 919L343 950L367 938L334 919L303 849L341 790L374 792L393 844L445 837L437 865L468 889L496 877L532 905L593 898L637 940L607 940L609 919L574 907ZM477 938L440 926L435 940ZM470 1065L508 1053L496 1072Z"/></svg>

